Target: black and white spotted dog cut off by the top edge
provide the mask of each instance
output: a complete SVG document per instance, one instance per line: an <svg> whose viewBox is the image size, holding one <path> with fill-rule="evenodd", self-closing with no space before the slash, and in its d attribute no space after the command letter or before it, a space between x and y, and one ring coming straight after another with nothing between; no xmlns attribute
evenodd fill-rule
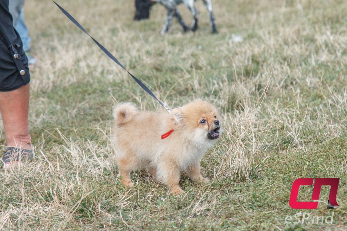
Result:
<svg viewBox="0 0 347 231"><path fill-rule="evenodd" d="M214 22L211 0L202 0L202 1L204 2L204 5L210 15L210 24L212 27L212 33L218 33L217 27ZM134 19L141 20L144 18L149 18L149 11L152 5L156 2L161 3L163 6L166 7L166 10L167 10L167 16L166 16L166 20L163 25L163 28L161 29L161 34L167 33L169 31L172 25L173 17L177 18L179 24L181 24L181 26L183 27L184 32L188 30L196 31L199 12L194 7L195 0L135 0L136 12L135 12ZM188 27L185 24L185 22L181 18L181 15L178 12L177 5L179 5L182 2L192 12L193 20L192 20L191 27Z"/></svg>

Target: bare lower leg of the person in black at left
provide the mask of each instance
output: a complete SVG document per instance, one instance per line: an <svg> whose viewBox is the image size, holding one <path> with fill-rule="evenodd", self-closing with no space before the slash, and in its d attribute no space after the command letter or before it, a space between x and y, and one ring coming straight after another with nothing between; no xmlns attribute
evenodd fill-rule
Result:
<svg viewBox="0 0 347 231"><path fill-rule="evenodd" d="M14 91L0 92L0 112L7 146L32 149L28 128L29 84ZM16 161L5 164L10 168Z"/></svg>

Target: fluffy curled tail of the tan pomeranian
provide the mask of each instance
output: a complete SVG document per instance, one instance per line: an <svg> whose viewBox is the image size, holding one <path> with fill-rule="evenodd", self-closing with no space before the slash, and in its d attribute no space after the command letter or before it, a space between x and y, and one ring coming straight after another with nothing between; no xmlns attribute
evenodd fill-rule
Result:
<svg viewBox="0 0 347 231"><path fill-rule="evenodd" d="M130 121L137 112L135 104L120 103L113 108L113 118L115 118L117 126L122 126Z"/></svg>

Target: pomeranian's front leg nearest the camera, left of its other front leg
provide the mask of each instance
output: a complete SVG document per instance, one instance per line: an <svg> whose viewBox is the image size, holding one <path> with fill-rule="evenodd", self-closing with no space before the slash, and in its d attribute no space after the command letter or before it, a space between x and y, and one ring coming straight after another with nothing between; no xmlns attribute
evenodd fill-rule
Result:
<svg viewBox="0 0 347 231"><path fill-rule="evenodd" d="M172 164L162 163L159 166L157 173L158 179L170 189L170 194L177 195L183 193L183 190L178 185L180 170L177 165L172 167Z"/></svg>

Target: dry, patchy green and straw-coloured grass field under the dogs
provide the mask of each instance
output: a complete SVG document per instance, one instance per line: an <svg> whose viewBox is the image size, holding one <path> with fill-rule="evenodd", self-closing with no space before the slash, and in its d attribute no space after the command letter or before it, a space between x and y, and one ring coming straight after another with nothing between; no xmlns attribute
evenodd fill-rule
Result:
<svg viewBox="0 0 347 231"><path fill-rule="evenodd" d="M1 230L346 230L347 4L345 0L214 0L212 35L160 35L155 5L135 22L133 0L58 3L170 108L213 102L224 134L202 158L199 184L183 175L170 196L144 171L121 186L110 143L111 108L164 110L51 1L26 1L32 36L29 126L35 159L0 171ZM186 22L191 15L179 7ZM243 41L235 38L242 36ZM1 123L2 124L2 123ZM3 130L3 129L2 129ZM5 144L1 133L1 144ZM2 148L5 150L5 147ZM332 224L286 224L297 178L340 178ZM299 190L310 200L312 186Z"/></svg>

